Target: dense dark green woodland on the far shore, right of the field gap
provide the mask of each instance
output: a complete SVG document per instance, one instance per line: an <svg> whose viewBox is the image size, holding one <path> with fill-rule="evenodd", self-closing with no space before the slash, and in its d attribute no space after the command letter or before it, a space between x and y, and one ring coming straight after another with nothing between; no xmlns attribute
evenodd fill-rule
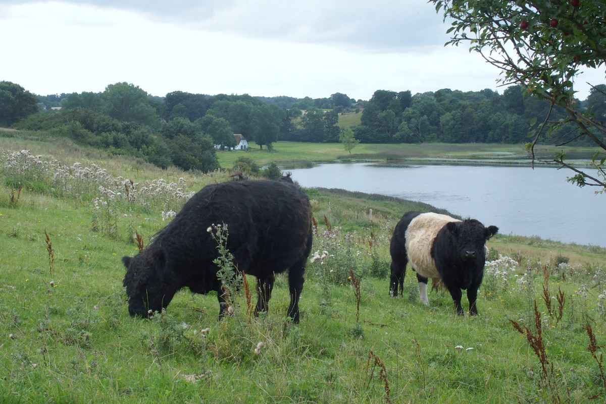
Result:
<svg viewBox="0 0 606 404"><path fill-rule="evenodd" d="M591 90L580 108L605 117L606 85ZM443 89L435 93L411 96L410 91L378 90L366 103L361 125L353 128L355 138L363 143L526 143L530 122L544 120L551 105L530 97L521 85L509 86L503 94L492 90L458 91ZM549 119L564 121L567 112L555 108ZM555 139L573 124L553 131ZM587 140L572 144L584 145Z"/></svg>

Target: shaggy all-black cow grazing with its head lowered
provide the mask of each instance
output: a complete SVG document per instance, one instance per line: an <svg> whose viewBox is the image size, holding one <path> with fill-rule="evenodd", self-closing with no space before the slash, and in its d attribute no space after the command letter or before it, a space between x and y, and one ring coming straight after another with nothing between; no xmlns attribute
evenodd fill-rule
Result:
<svg viewBox="0 0 606 404"><path fill-rule="evenodd" d="M217 278L217 242L208 228L227 224L227 249L239 271L258 280L256 312L267 311L274 276L288 270L288 316L299 322L299 296L311 250L311 206L290 179L238 180L205 186L134 257L124 256L124 286L132 316L167 307L175 293L215 290L219 316L226 303Z"/></svg>

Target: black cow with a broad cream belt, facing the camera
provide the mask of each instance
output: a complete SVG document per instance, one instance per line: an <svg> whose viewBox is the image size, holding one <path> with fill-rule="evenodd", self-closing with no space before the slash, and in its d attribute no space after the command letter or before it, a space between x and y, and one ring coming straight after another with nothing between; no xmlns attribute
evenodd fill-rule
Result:
<svg viewBox="0 0 606 404"><path fill-rule="evenodd" d="M438 213L405 213L391 238L391 295L398 296L398 290L402 291L410 261L423 304L429 304L427 279L441 279L457 314L463 315L461 289L467 289L470 314L478 314L476 298L484 276L485 243L498 231L498 227L484 227L475 219L461 221Z"/></svg>

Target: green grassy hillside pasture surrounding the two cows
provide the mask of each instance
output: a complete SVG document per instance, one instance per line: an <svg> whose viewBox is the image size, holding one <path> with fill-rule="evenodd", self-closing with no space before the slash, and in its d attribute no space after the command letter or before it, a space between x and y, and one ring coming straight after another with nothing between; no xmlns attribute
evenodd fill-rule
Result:
<svg viewBox="0 0 606 404"><path fill-rule="evenodd" d="M278 143L276 152L259 155L315 160L310 156L325 147L296 146ZM446 149L418 146L425 155ZM162 212L179 210L189 192L225 180L229 171L161 170L70 142L0 138L0 149L2 403L606 397L606 249L496 235L487 244L480 315L458 317L447 293L432 292L430 306L422 305L410 271L403 295L388 296L393 227L405 210L430 206L307 189L318 222L313 252L328 255L308 264L300 325L285 320L284 276L259 318L249 315L244 292L235 296L235 314L218 321L216 294L182 290L147 321L128 316L121 256L138 251L137 234L147 243L165 226ZM21 149L31 153L7 152ZM338 155L327 152L327 160L332 153Z"/></svg>

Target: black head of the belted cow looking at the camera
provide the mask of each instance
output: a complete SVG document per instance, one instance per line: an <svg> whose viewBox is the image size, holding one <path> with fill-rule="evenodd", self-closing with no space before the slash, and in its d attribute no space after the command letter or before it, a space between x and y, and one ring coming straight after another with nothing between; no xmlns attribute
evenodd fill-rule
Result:
<svg viewBox="0 0 606 404"><path fill-rule="evenodd" d="M484 227L484 224L475 219L450 222L446 226L453 235L454 247L456 247L459 257L468 262L478 258L484 261L486 241L499 231L498 227Z"/></svg>

